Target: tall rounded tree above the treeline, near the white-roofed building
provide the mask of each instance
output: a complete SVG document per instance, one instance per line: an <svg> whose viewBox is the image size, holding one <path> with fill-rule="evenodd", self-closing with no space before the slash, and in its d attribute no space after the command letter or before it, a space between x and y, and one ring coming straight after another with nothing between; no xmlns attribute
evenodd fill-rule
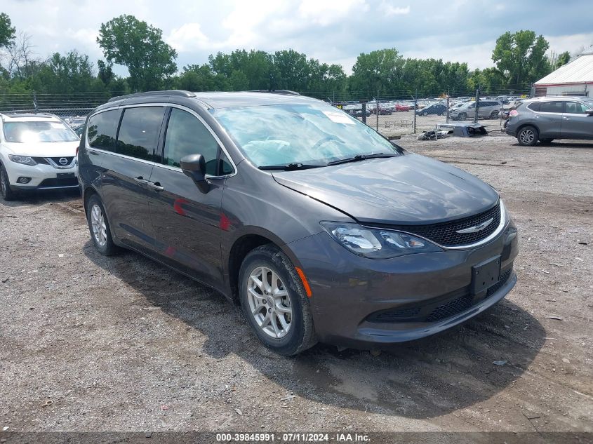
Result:
<svg viewBox="0 0 593 444"><path fill-rule="evenodd" d="M533 31L505 32L496 39L492 60L507 86L521 86L549 74L548 48L547 40Z"/></svg>

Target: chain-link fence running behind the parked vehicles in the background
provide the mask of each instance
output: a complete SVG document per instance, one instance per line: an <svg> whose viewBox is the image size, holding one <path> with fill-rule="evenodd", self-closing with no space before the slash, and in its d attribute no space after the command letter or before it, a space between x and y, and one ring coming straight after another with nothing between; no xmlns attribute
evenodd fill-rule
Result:
<svg viewBox="0 0 593 444"><path fill-rule="evenodd" d="M356 116L382 135L420 133L434 130L439 123L479 121L488 131L500 130L509 109L533 95L531 85L500 88L488 93L410 93L392 91L381 95L335 91L299 91L302 95L330 102ZM366 96L364 94L367 94ZM358 98L353 98L358 97ZM4 94L0 113L49 113L73 126L80 124L93 108L109 100L106 93Z"/></svg>

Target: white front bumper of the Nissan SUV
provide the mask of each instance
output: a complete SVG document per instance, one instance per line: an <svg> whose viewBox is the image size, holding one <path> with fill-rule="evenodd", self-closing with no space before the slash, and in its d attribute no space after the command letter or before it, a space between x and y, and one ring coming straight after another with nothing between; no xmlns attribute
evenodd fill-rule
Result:
<svg viewBox="0 0 593 444"><path fill-rule="evenodd" d="M15 191L74 189L78 187L78 179L76 178L78 175L78 166L76 164L71 168L58 169L44 163L28 166L11 162L6 165L6 174L8 175L8 182L10 182L11 189ZM18 182L19 177L30 177L31 180L27 184L21 184Z"/></svg>

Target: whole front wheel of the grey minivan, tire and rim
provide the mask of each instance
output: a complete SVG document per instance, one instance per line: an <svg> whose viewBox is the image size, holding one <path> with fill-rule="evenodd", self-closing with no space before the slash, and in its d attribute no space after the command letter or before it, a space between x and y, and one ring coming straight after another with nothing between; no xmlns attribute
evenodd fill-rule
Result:
<svg viewBox="0 0 593 444"><path fill-rule="evenodd" d="M280 297L272 297L274 287ZM245 257L239 300L251 330L268 349L292 356L317 344L307 292L291 260L276 246L262 245ZM276 311L278 307L282 311Z"/></svg>

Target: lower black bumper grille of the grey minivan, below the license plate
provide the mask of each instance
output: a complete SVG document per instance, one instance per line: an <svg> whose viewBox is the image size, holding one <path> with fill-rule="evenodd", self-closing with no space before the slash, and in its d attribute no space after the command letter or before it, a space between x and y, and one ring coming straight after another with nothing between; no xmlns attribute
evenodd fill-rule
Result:
<svg viewBox="0 0 593 444"><path fill-rule="evenodd" d="M507 283L512 272L512 266L503 271L498 282L488 288L486 298L500 290L502 285ZM475 301L474 296L469 293L469 287L465 287L442 295L437 298L437 301L427 301L422 306L376 311L367 316L366 321L375 323L437 322L470 309L481 301Z"/></svg>

